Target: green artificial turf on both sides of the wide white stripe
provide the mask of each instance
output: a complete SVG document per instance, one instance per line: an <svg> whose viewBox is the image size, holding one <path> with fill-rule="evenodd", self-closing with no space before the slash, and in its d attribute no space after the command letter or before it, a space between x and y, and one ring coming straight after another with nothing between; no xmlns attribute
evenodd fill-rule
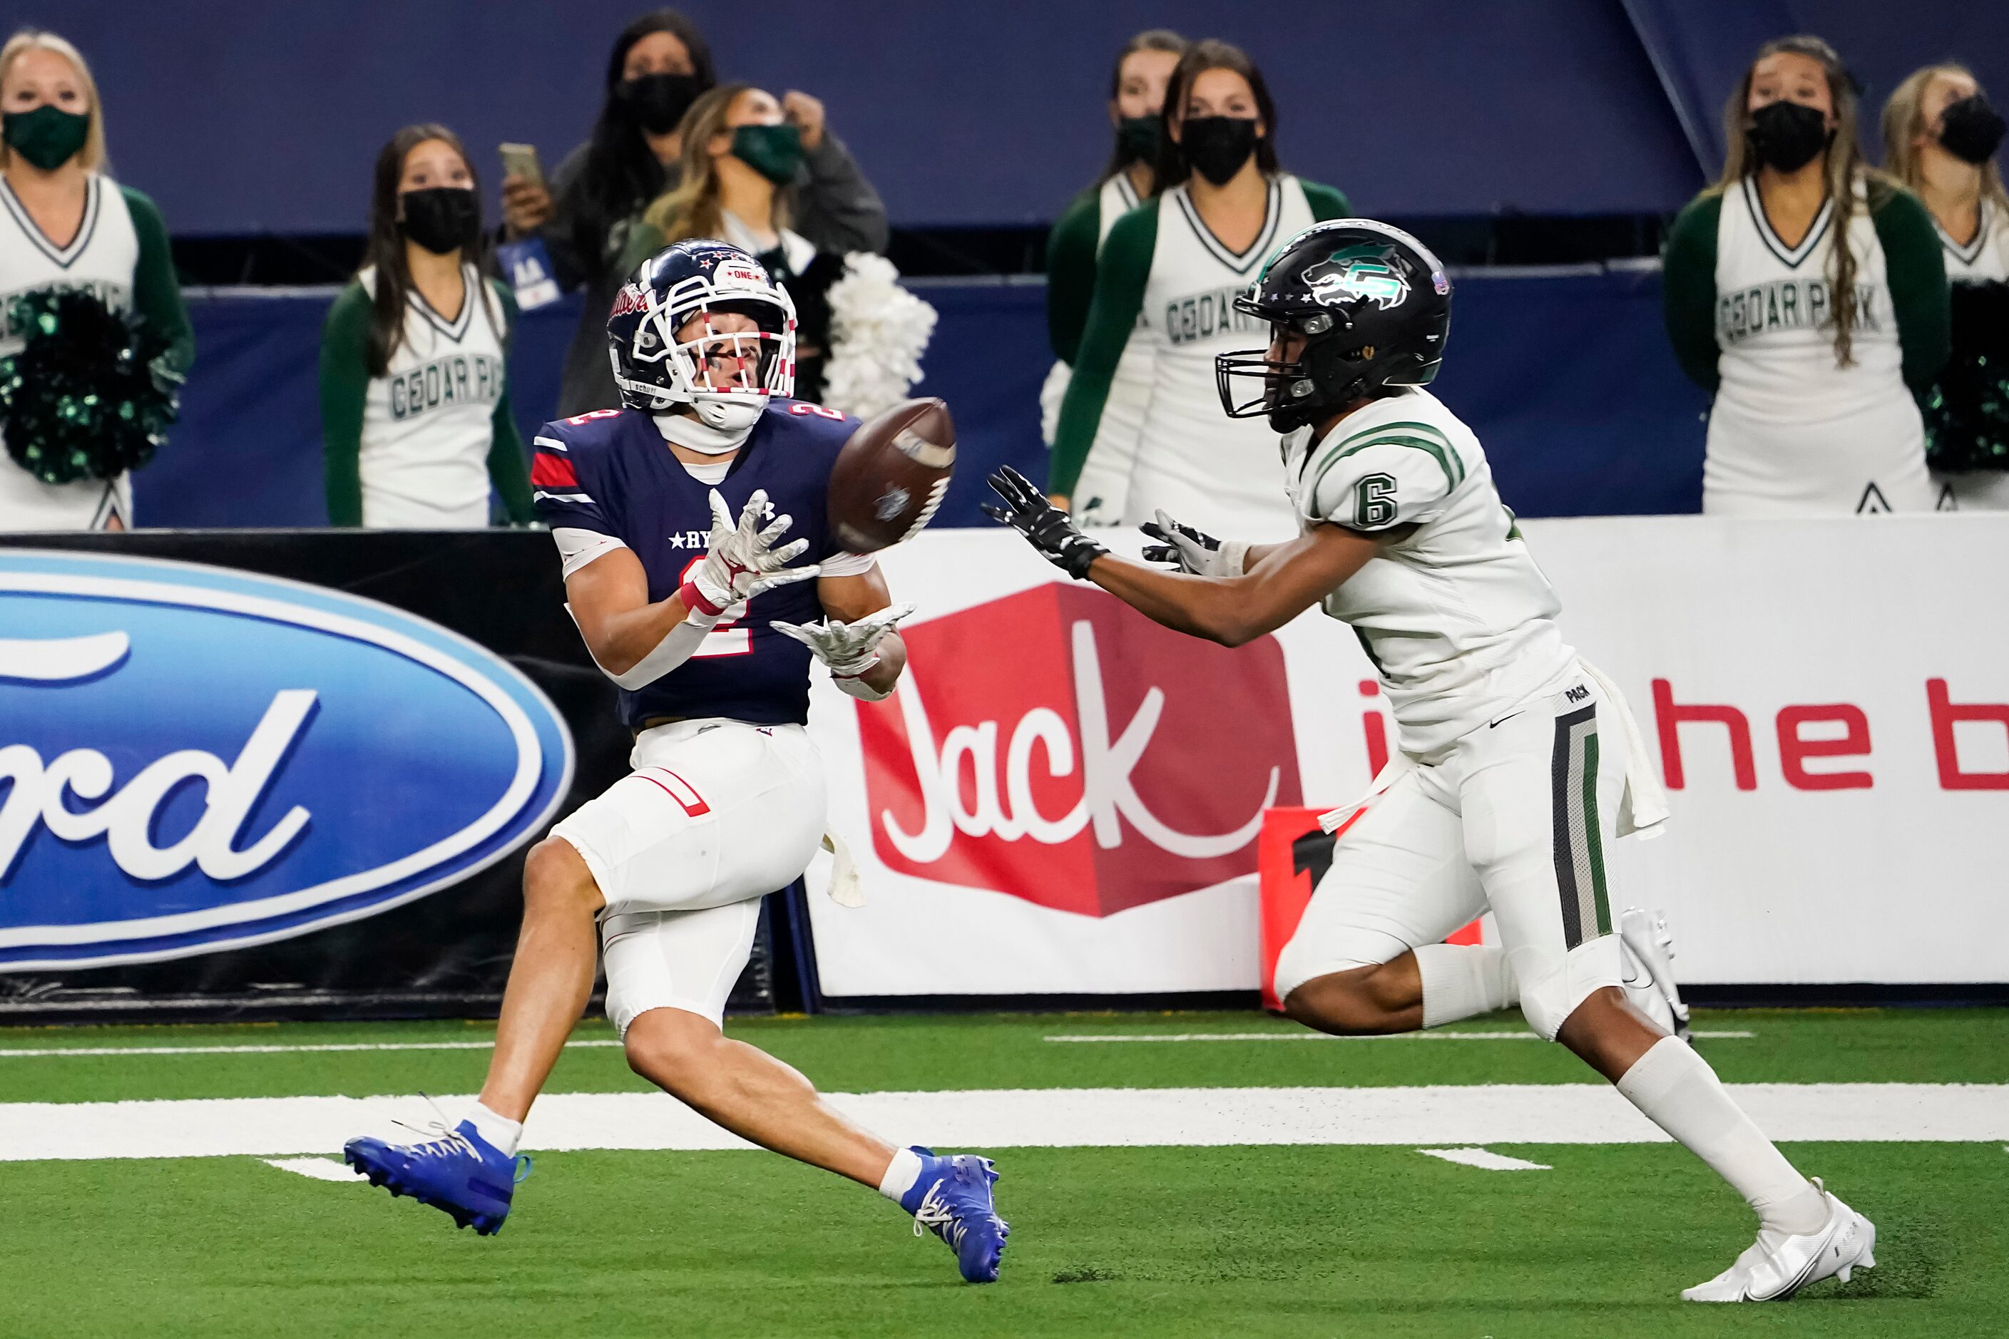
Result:
<svg viewBox="0 0 2009 1339"><path fill-rule="evenodd" d="M2001 1010L1698 1012L1696 1026L1752 1034L1702 1042L1732 1084L2009 1082ZM852 1094L1589 1078L1533 1040L1262 1040L1298 1032L1254 1014L729 1030ZM1107 1034L1256 1036L1049 1040ZM0 1052L474 1042L0 1054L0 1130L6 1104L26 1102L472 1092L488 1036L486 1024L0 1030ZM609 1038L587 1024L577 1040ZM575 1046L550 1090L643 1084L617 1048ZM20 1154L0 1144L0 1335L2009 1333L2001 1140L1786 1144L1878 1223L1878 1267L1774 1307L1676 1301L1752 1231L1684 1150L1487 1148L1549 1170L1483 1170L1400 1144L1000 1148L1004 1273L964 1287L948 1251L910 1237L894 1207L763 1152L542 1152L508 1229L476 1239L412 1200L259 1156L6 1160Z"/></svg>

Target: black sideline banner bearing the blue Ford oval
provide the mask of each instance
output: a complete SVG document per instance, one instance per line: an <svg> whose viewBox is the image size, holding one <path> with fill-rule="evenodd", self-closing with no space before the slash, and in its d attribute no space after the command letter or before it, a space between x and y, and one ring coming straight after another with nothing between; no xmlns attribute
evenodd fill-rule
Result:
<svg viewBox="0 0 2009 1339"><path fill-rule="evenodd" d="M6 536L0 1016L492 1008L627 753L546 534Z"/></svg>

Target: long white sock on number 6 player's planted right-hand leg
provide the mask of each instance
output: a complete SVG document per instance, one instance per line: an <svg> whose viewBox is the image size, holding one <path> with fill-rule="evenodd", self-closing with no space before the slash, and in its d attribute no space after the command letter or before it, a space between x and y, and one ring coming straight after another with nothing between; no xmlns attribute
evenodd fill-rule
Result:
<svg viewBox="0 0 2009 1339"><path fill-rule="evenodd" d="M1752 1118L1730 1100L1710 1062L1682 1040L1661 1038L1625 1070L1619 1094L1692 1154L1716 1168L1778 1233L1816 1233L1828 1202L1792 1168Z"/></svg>

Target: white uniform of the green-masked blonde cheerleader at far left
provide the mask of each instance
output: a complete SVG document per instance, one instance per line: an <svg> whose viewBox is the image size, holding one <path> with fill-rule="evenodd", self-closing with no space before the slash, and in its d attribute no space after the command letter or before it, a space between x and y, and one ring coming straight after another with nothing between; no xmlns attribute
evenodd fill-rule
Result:
<svg viewBox="0 0 2009 1339"><path fill-rule="evenodd" d="M28 337L12 327L14 299L34 289L84 289L113 311L133 305L139 233L119 183L98 173L84 181L84 221L58 247L28 217L6 177L0 177L0 357L20 353ZM4 446L4 444L0 444ZM0 450L0 530L102 530L113 516L133 524L133 486L117 480L44 484Z"/></svg>

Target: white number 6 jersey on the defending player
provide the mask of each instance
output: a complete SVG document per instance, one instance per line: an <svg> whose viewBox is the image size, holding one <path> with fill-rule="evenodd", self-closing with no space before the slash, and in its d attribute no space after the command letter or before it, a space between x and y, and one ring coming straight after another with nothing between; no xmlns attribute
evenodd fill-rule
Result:
<svg viewBox="0 0 2009 1339"><path fill-rule="evenodd" d="M1380 671L1404 753L1432 761L1557 691L1575 664L1555 624L1563 604L1493 488L1479 438L1436 395L1404 387L1318 442L1300 428L1282 446L1304 532L1406 530L1324 600Z"/></svg>

